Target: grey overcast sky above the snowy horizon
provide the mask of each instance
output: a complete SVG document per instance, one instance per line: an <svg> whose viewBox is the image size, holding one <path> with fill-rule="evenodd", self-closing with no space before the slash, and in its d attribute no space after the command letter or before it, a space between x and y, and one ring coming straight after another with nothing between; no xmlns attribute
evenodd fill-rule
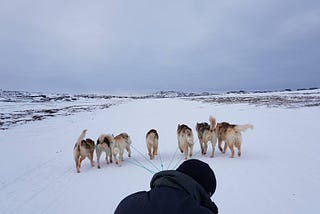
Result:
<svg viewBox="0 0 320 214"><path fill-rule="evenodd" d="M0 2L4 90L319 86L319 0Z"/></svg>

